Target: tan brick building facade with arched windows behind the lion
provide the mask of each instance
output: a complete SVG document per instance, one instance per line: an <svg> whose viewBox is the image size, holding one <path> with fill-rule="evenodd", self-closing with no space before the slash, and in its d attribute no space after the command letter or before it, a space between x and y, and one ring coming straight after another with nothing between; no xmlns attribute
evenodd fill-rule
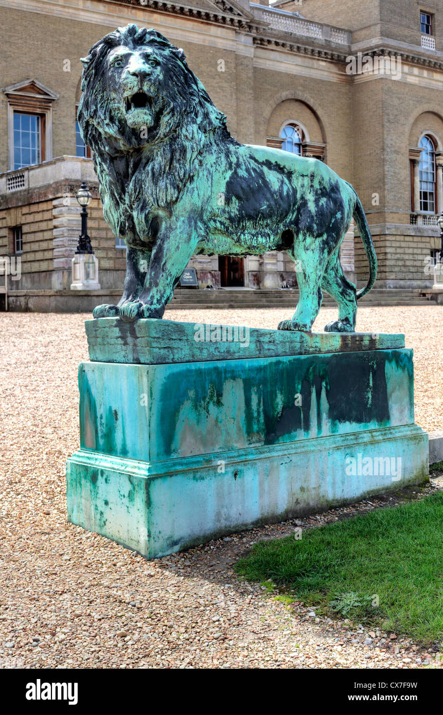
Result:
<svg viewBox="0 0 443 715"><path fill-rule="evenodd" d="M0 0L0 16L0 256L21 259L14 289L69 290L82 180L94 196L88 227L100 283L122 286L125 250L104 222L76 108L79 57L128 22L183 47L236 139L317 157L354 185L379 287L432 285L443 211L443 0ZM341 259L363 284L353 227ZM190 265L200 285L296 285L281 252Z"/></svg>

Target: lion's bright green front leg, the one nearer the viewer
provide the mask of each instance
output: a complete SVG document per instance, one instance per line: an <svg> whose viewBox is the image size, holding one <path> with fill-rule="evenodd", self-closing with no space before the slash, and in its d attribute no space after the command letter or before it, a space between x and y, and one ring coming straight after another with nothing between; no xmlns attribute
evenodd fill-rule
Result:
<svg viewBox="0 0 443 715"><path fill-rule="evenodd" d="M161 230L152 249L147 267L145 285L137 300L126 302L120 307L122 320L136 320L137 317L162 317L167 302L172 298L175 285L193 257L198 238L184 240L189 236L188 222L176 225L173 230Z"/></svg>

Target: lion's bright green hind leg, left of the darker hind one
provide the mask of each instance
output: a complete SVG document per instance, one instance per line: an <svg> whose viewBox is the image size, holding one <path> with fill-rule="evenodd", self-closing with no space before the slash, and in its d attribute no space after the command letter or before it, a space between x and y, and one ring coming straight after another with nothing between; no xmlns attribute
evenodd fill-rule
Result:
<svg viewBox="0 0 443 715"><path fill-rule="evenodd" d="M278 330L305 330L311 332L312 324L318 315L321 300L323 299L321 279L327 256L323 257L321 255L321 245L318 245L316 250L313 247L308 247L303 251L294 250L294 252L288 253L291 258L296 260L299 266L297 282L300 297L292 319L282 320L278 324Z"/></svg>

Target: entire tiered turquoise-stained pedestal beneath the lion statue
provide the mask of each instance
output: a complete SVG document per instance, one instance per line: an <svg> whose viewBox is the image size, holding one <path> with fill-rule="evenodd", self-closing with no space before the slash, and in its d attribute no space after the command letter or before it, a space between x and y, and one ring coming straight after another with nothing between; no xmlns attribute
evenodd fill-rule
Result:
<svg viewBox="0 0 443 715"><path fill-rule="evenodd" d="M86 328L68 520L147 558L428 479L402 335Z"/></svg>

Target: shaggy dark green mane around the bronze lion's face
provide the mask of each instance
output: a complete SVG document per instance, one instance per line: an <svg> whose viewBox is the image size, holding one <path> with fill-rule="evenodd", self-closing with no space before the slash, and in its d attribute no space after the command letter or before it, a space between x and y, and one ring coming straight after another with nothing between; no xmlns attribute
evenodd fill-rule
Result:
<svg viewBox="0 0 443 715"><path fill-rule="evenodd" d="M116 46L151 46L167 62L170 84L163 109L147 144L112 112L115 97L107 91L107 54ZM152 231L152 208L170 212L185 183L202 163L208 143L234 142L226 117L211 102L185 54L160 32L130 24L99 40L82 59L82 99L78 121L92 149L104 217L116 235L140 245Z"/></svg>

